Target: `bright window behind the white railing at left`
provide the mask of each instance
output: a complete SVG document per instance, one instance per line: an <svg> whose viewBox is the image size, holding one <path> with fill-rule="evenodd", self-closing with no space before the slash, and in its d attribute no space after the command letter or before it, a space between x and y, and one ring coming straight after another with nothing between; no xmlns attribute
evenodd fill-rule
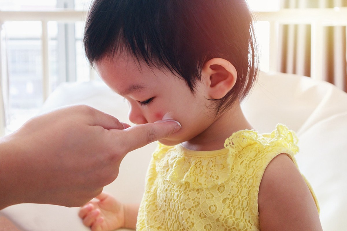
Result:
<svg viewBox="0 0 347 231"><path fill-rule="evenodd" d="M2 0L0 10L87 10L89 4L89 0ZM83 22L49 21L47 27L50 90L61 82L87 81L90 68L82 47ZM3 92L6 133L39 113L43 104L41 35L40 21L6 21L2 25L1 62L6 74L0 85L7 88Z"/></svg>

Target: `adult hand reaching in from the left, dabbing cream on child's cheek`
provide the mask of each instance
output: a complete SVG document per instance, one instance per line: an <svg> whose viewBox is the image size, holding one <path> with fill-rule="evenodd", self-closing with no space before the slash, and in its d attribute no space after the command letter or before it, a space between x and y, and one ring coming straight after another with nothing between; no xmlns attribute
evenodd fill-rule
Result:
<svg viewBox="0 0 347 231"><path fill-rule="evenodd" d="M130 127L82 105L37 116L0 140L0 209L84 205L117 178L129 151L179 128L175 122Z"/></svg>

